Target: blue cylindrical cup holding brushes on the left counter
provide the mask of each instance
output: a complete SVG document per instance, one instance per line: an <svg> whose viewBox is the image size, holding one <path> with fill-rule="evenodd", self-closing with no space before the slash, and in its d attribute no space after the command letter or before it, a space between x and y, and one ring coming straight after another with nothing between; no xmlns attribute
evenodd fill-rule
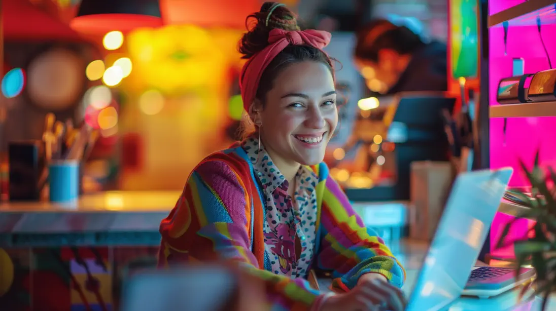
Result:
<svg viewBox="0 0 556 311"><path fill-rule="evenodd" d="M48 165L50 201L71 203L79 198L78 160L54 160Z"/></svg>

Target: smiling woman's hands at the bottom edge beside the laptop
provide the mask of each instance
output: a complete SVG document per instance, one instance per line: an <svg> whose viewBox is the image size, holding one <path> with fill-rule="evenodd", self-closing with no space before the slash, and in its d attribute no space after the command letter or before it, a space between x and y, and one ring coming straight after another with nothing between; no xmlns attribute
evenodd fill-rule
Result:
<svg viewBox="0 0 556 311"><path fill-rule="evenodd" d="M322 303L321 311L403 311L407 302L400 289L380 278L364 278L349 292Z"/></svg>

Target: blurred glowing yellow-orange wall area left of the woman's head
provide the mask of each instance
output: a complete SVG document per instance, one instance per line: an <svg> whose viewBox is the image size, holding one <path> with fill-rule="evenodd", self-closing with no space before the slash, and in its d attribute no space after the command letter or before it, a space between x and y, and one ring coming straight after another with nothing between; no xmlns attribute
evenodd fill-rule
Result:
<svg viewBox="0 0 556 311"><path fill-rule="evenodd" d="M122 189L178 189L210 152L229 143L232 68L239 31L196 26L138 29L126 37L133 63L120 89L120 134L139 133L141 169L123 172Z"/></svg>

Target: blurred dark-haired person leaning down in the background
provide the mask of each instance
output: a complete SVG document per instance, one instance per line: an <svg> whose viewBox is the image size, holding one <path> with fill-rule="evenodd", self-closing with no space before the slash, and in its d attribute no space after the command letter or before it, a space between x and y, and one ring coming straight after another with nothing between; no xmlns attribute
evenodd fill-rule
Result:
<svg viewBox="0 0 556 311"><path fill-rule="evenodd" d="M355 65L374 92L446 91L446 44L429 41L418 21L375 19L357 33Z"/></svg>

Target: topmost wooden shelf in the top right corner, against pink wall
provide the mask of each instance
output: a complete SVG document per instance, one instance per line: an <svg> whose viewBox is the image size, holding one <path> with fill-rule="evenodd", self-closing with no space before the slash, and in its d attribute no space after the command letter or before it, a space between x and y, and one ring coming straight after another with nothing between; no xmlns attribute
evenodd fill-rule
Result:
<svg viewBox="0 0 556 311"><path fill-rule="evenodd" d="M488 27L502 26L509 22L512 26L537 24L537 16L542 24L556 23L555 0L528 0L488 17Z"/></svg>

